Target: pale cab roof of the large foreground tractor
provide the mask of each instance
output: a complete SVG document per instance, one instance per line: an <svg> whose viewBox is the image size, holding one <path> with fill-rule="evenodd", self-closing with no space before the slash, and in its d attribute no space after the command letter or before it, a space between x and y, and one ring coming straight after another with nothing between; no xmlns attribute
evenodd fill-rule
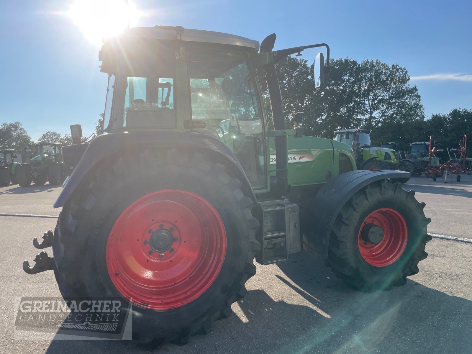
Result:
<svg viewBox="0 0 472 354"><path fill-rule="evenodd" d="M222 32L187 29L180 26L134 27L126 30L121 37L160 40L180 38L184 42L229 44L259 51L259 42L249 38Z"/></svg>

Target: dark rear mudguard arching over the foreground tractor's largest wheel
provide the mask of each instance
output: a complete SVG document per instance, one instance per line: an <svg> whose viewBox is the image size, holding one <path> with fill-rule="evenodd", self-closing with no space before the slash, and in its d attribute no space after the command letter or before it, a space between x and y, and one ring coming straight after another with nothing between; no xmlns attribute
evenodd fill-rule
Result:
<svg viewBox="0 0 472 354"><path fill-rule="evenodd" d="M80 145L78 145L80 146ZM237 177L242 185L245 195L256 201L253 189L249 184L246 174L234 153L224 143L210 135L186 132L166 131L133 131L102 134L94 138L85 149L80 161L74 167L72 174L59 194L54 208L62 207L67 199L80 184L87 173L93 169L101 160L110 157L111 154L128 149L146 149L149 147L178 147L191 150L205 150L211 154L211 159L225 165L229 171ZM67 150L67 149L63 149ZM77 150L80 153L80 149ZM66 166L67 154L64 154Z"/></svg>

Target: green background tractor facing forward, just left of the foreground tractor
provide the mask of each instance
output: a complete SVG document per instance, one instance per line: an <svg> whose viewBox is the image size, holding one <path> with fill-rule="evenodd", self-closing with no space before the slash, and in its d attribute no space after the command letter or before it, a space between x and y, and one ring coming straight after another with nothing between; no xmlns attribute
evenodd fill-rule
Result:
<svg viewBox="0 0 472 354"><path fill-rule="evenodd" d="M43 185L49 179L50 185L60 185L67 175L66 167L62 162L61 143L34 144L30 166L34 184Z"/></svg>

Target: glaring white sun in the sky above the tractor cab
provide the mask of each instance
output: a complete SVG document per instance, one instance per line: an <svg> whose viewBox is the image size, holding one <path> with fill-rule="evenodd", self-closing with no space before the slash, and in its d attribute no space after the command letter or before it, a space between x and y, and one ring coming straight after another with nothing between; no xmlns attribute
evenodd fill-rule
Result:
<svg viewBox="0 0 472 354"><path fill-rule="evenodd" d="M116 36L128 25L136 25L141 14L133 3L126 2L76 0L67 11L67 16L80 28L87 40L100 45L103 38Z"/></svg>

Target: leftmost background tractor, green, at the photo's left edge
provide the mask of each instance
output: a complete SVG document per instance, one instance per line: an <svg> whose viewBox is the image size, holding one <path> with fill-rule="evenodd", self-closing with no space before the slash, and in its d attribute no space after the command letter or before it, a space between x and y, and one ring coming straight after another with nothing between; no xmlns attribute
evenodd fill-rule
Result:
<svg viewBox="0 0 472 354"><path fill-rule="evenodd" d="M11 183L22 187L31 185L30 167L27 163L15 162L17 155L13 149L0 150L0 185Z"/></svg>

